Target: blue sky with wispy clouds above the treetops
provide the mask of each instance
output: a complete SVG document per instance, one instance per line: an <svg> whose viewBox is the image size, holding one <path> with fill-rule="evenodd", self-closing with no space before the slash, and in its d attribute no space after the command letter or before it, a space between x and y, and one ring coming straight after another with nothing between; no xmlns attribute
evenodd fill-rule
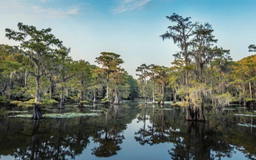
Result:
<svg viewBox="0 0 256 160"><path fill-rule="evenodd" d="M18 22L50 27L71 48L74 60L96 64L100 52L114 52L135 76L142 63L172 66L179 48L159 36L173 25L165 16L174 12L192 22L209 22L216 45L230 49L233 60L252 54L248 46L256 44L256 0L0 0L0 44L19 44L4 31L18 30Z"/></svg>

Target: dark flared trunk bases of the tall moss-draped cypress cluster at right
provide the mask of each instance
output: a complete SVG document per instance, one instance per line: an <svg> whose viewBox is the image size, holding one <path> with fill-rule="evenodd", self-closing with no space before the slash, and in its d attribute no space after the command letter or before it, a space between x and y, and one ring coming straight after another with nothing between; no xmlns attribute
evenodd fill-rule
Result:
<svg viewBox="0 0 256 160"><path fill-rule="evenodd" d="M204 117L204 108L194 108L191 109L191 107L189 106L187 108L187 116L186 116L186 120L187 121L205 121L205 117Z"/></svg>

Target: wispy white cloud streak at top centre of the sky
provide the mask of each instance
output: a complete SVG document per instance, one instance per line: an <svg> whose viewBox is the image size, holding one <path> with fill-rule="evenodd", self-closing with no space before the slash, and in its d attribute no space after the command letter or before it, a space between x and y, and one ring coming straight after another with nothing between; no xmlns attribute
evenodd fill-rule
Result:
<svg viewBox="0 0 256 160"><path fill-rule="evenodd" d="M126 11L132 11L143 7L148 4L151 0L123 0L121 4L114 9L114 13L121 13Z"/></svg>

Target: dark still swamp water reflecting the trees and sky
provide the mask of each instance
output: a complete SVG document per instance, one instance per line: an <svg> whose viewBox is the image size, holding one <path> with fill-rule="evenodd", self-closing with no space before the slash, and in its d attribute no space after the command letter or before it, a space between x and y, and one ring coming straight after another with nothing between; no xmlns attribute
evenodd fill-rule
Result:
<svg viewBox="0 0 256 160"><path fill-rule="evenodd" d="M92 113L100 116L26 117L32 108L0 109L1 159L255 159L256 115L253 108L206 109L207 121L185 121L186 109L139 102L47 113ZM6 113L8 110L28 113ZM95 112L96 113L96 112ZM97 112L98 113L98 112ZM246 114L252 116L236 116ZM240 125L237 125L240 124ZM247 124L246 126L243 126ZM250 125L253 124L253 125Z"/></svg>

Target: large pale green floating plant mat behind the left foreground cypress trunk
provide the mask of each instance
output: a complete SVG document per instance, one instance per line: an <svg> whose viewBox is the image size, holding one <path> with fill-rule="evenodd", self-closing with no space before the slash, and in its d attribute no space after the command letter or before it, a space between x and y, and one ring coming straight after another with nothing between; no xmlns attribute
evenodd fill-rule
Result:
<svg viewBox="0 0 256 160"><path fill-rule="evenodd" d="M69 113L51 113L51 114L44 114L43 117L48 118L73 118L73 117L80 117L80 116L100 116L99 113L76 113L76 112L69 112ZM25 114L25 115L16 115L16 116L9 116L9 117L29 117L31 118L32 114Z"/></svg>

